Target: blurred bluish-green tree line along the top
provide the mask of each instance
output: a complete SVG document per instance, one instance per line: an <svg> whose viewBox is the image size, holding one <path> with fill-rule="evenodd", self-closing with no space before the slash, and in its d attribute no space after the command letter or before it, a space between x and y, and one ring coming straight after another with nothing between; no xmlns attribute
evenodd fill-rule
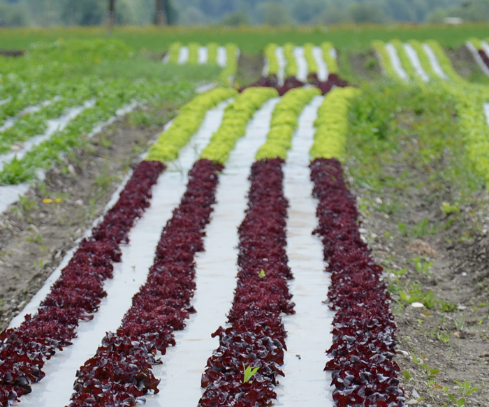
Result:
<svg viewBox="0 0 489 407"><path fill-rule="evenodd" d="M110 13L110 8L114 13ZM0 0L7 26L338 24L489 20L489 0Z"/></svg>

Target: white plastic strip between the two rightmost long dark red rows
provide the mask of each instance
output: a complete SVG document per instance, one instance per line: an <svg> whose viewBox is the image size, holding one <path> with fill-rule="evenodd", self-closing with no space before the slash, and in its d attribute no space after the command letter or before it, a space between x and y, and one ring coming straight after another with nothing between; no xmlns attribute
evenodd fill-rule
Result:
<svg viewBox="0 0 489 407"><path fill-rule="evenodd" d="M312 235L318 223L317 200L312 197L308 168L314 119L322 101L322 96L316 96L302 112L284 167L285 195L289 200L287 255L294 276L289 289L295 314L282 318L287 331L285 377L279 379L275 406L334 406L331 374L323 369L327 361L325 350L333 344L335 313L323 303L331 281L324 271L321 240Z"/></svg>

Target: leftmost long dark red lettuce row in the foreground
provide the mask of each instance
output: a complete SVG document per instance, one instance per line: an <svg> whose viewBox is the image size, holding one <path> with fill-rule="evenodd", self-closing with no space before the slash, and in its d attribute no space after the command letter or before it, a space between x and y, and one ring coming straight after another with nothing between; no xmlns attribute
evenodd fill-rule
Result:
<svg viewBox="0 0 489 407"><path fill-rule="evenodd" d="M45 376L45 360L71 344L80 320L93 318L106 295L103 281L112 277L112 262L120 261L119 244L127 242L134 221L149 206L151 188L163 169L159 161L138 165L117 203L61 270L38 313L0 334L0 406L31 392L31 383Z"/></svg>

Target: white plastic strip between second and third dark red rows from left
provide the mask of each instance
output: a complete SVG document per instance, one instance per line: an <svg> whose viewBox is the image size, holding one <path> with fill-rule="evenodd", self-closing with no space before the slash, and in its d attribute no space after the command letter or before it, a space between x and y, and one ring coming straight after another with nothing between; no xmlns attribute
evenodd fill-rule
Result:
<svg viewBox="0 0 489 407"><path fill-rule="evenodd" d="M265 103L256 112L231 153L228 165L219 177L217 204L206 229L205 251L196 257L196 292L187 327L175 332L177 345L168 348L163 364L153 368L161 379L159 394L146 397L147 407L194 407L202 397L200 378L207 359L219 347L219 338L211 334L226 321L233 302L238 258L238 231L247 206L249 168L254 154L265 141L272 110L279 98Z"/></svg>

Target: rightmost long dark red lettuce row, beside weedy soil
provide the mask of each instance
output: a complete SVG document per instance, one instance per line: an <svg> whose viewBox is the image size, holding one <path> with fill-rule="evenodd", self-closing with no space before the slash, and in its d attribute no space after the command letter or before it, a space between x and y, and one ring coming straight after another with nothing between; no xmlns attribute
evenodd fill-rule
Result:
<svg viewBox="0 0 489 407"><path fill-rule="evenodd" d="M318 158L310 165L313 194L319 200L314 230L324 245L331 273L328 293L333 320L333 392L341 407L401 407L404 390L399 386L393 361L395 323L390 298L381 281L382 268L375 264L358 231L356 201L344 184L335 158ZM325 369L325 370L326 370Z"/></svg>

